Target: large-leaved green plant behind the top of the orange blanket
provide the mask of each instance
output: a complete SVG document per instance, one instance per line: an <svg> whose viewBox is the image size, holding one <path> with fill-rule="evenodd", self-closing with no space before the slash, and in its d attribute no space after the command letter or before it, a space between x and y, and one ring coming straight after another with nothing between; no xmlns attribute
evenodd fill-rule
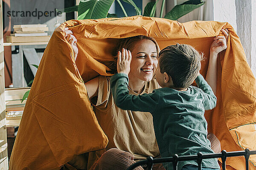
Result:
<svg viewBox="0 0 256 170"><path fill-rule="evenodd" d="M114 3L115 0L81 0L79 5L72 6L69 8L64 8L61 12L73 12L78 11L78 20L82 19L99 19L105 17L117 17L116 14L109 14L109 8ZM147 17L155 17L156 13L156 5L159 0L155 2L148 3L144 8L143 16ZM122 6L121 0L116 0L119 4L120 8L122 9L125 17L128 17L125 8ZM122 2L128 3L132 5L137 13L137 15L141 14L141 9L136 6L133 0L122 0ZM162 1L161 11L160 11L160 18L163 18L163 9L166 0ZM177 20L178 18L182 17L185 14L193 11L194 9L204 5L204 1L202 0L188 0L180 5L176 5L171 11L167 12L164 18L170 20Z"/></svg>

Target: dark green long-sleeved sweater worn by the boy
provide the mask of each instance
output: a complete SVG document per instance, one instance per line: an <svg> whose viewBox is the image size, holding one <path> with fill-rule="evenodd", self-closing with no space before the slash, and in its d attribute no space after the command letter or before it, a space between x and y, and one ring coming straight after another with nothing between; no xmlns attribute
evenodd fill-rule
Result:
<svg viewBox="0 0 256 170"><path fill-rule="evenodd" d="M215 108L217 98L202 75L195 79L199 88L189 86L187 91L172 88L155 89L151 94L131 95L128 75L111 77L111 91L119 108L150 112L161 157L214 153L207 139L207 122L204 111ZM178 170L196 161L180 161ZM172 170L172 163L164 164ZM217 159L203 159L202 167L220 168Z"/></svg>

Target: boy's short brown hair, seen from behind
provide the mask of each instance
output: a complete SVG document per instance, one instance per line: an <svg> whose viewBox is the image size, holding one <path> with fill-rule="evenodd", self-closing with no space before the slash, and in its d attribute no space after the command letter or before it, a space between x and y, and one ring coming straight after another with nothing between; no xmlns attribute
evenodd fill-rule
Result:
<svg viewBox="0 0 256 170"><path fill-rule="evenodd" d="M187 88L201 69L203 54L191 45L170 45L159 53L160 72L172 77L175 88Z"/></svg>

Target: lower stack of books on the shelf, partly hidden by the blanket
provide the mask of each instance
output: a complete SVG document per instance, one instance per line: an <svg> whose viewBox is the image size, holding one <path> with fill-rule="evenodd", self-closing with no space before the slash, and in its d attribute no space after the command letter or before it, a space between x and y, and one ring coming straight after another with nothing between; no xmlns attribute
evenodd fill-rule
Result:
<svg viewBox="0 0 256 170"><path fill-rule="evenodd" d="M5 89L5 101L6 101L6 121L13 120L19 123L22 117L22 113L26 104L26 99L22 101L23 95L30 88L7 88ZM17 120L17 121L15 121ZM12 121L12 122L13 122ZM16 124L17 124L16 123Z"/></svg>

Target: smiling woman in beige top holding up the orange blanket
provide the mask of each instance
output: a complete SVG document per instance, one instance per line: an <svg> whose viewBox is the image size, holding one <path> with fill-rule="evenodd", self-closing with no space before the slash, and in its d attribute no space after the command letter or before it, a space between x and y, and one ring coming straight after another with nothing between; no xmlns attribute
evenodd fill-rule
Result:
<svg viewBox="0 0 256 170"><path fill-rule="evenodd" d="M76 38L72 34L72 31L66 28L66 39L72 45L76 58L78 49L76 47ZM130 94L151 93L154 89L159 88L156 80L153 79L157 68L157 54L159 52L157 42L151 37L136 36L122 39L118 47L117 51L125 48L130 50L132 54L131 71L128 75ZM119 159L117 162L122 164L122 168L125 169L134 163L134 160L145 159L147 156L160 156L154 136L151 114L124 111L117 108L113 102L108 77L96 77L86 82L85 86L95 106L94 111L99 125L101 125L102 130L109 139L109 143L104 150L89 153L88 169L92 167L105 151L111 148L118 148L118 150L112 149L111 153L105 153L105 157L103 158L102 156L91 169L102 169L100 167L101 164L104 164L102 166L106 169L109 169L109 167L106 167L107 165L111 165L115 169L121 169L121 167L116 167L118 163L110 163L116 161L116 159ZM213 139L216 140L216 137L213 136ZM216 143L217 148L220 148L219 141ZM123 157L120 159L120 156ZM105 158L108 161L105 161ZM157 164L157 167L154 169L163 170L164 168Z"/></svg>

